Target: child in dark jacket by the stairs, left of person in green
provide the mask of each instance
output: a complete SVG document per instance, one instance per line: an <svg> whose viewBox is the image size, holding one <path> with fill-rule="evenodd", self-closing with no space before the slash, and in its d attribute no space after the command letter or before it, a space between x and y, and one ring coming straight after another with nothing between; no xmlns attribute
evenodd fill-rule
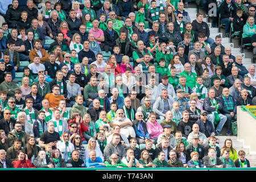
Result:
<svg viewBox="0 0 256 182"><path fill-rule="evenodd" d="M240 32L239 39L238 39L238 46L241 46L243 26L246 23L246 20L243 20L242 15L243 15L243 10L237 9L237 14L234 15L234 19L233 19L234 32Z"/></svg>

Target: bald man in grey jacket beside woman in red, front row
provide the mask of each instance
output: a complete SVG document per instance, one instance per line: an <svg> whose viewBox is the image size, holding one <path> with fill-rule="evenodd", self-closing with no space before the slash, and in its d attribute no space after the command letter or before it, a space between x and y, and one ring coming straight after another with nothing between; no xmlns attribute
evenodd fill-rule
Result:
<svg viewBox="0 0 256 182"><path fill-rule="evenodd" d="M52 161L49 158L46 158L46 151L44 150L39 151L33 164L36 168L54 168Z"/></svg>

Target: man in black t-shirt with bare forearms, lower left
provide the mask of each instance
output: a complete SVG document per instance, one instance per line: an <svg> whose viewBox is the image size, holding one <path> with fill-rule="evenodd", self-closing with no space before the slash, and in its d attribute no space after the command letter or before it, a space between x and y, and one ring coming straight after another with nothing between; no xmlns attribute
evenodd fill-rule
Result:
<svg viewBox="0 0 256 182"><path fill-rule="evenodd" d="M45 131L39 140L39 147L44 148L46 144L51 144L52 148L56 148L57 141L60 140L60 134L55 131L53 121L47 123L47 131Z"/></svg>

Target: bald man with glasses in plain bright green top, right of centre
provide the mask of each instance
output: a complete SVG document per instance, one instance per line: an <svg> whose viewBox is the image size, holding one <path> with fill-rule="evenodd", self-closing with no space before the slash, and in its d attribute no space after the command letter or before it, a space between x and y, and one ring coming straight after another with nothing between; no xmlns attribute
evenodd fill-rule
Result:
<svg viewBox="0 0 256 182"><path fill-rule="evenodd" d="M179 74L180 76L184 76L186 78L186 85L190 88L194 88L196 86L196 73L191 71L191 64L184 64L184 71Z"/></svg>

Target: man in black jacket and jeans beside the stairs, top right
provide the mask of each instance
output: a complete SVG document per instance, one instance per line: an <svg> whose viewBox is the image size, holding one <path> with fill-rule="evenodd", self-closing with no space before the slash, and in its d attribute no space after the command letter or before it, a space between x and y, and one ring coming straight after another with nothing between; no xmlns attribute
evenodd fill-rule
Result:
<svg viewBox="0 0 256 182"><path fill-rule="evenodd" d="M225 37L229 37L230 24L236 14L236 5L231 0L226 0L220 5L220 23L225 24Z"/></svg>

